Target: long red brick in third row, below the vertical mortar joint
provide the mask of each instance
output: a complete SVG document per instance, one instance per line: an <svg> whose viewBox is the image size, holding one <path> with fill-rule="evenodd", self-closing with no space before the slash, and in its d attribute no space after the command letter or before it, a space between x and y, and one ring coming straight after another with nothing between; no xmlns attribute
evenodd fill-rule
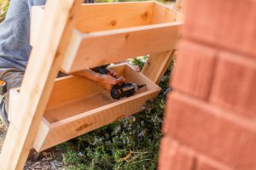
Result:
<svg viewBox="0 0 256 170"><path fill-rule="evenodd" d="M255 122L177 92L167 107L165 134L235 169L256 169Z"/></svg>

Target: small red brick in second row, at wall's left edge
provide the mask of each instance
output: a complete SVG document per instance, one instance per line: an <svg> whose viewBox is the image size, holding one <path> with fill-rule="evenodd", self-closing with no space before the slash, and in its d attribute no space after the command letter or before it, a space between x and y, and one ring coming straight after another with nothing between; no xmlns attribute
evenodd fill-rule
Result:
<svg viewBox="0 0 256 170"><path fill-rule="evenodd" d="M216 50L183 41L178 51L171 85L178 91L207 99L210 93Z"/></svg>

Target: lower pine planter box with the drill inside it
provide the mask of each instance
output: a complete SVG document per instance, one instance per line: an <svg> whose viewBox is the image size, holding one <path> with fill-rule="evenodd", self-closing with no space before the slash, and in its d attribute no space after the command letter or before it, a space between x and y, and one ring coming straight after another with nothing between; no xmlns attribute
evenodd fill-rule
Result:
<svg viewBox="0 0 256 170"><path fill-rule="evenodd" d="M109 92L85 79L63 77L56 80L44 121L41 122L33 144L37 151L142 111L146 100L159 94L160 88L130 65L121 64L112 69L119 76L123 75L126 81L146 83L147 87L140 89L134 96L115 100ZM66 86L67 82L70 86Z"/></svg>

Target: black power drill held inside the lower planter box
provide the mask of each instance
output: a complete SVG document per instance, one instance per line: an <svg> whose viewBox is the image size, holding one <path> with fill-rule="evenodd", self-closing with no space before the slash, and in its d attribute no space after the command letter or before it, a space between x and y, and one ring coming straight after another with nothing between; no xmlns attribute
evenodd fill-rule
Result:
<svg viewBox="0 0 256 170"><path fill-rule="evenodd" d="M91 70L100 74L108 74L109 71L107 67L108 65L102 65L102 66L93 68ZM110 94L113 99L130 97L133 94L135 94L138 91L138 89L143 88L144 86L146 86L146 84L137 85L136 83L133 83L133 82L123 82L123 83L114 85L113 88L111 89Z"/></svg>

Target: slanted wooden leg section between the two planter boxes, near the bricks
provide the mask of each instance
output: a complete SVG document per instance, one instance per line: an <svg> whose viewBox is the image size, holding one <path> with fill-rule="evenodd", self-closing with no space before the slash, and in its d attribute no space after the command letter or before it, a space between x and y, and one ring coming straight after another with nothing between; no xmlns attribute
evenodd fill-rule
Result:
<svg viewBox="0 0 256 170"><path fill-rule="evenodd" d="M148 77L152 82L159 84L161 78L164 76L168 66L172 61L175 50L162 52L159 54L150 54L142 73Z"/></svg>

